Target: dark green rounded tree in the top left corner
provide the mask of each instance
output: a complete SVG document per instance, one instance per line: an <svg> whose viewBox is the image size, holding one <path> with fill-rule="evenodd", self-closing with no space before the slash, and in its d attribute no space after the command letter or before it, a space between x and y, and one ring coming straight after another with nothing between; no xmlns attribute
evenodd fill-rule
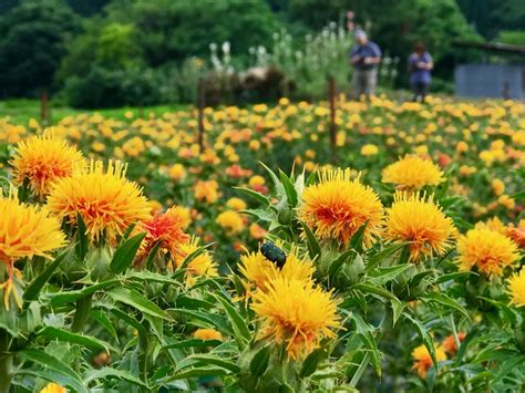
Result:
<svg viewBox="0 0 525 393"><path fill-rule="evenodd" d="M0 18L0 96L50 90L79 21L60 0L22 1Z"/></svg>

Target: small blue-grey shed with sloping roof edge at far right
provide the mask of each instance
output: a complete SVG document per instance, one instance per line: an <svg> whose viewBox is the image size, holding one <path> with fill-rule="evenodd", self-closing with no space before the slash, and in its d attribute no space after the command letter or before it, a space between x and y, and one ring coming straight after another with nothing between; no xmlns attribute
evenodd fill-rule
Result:
<svg viewBox="0 0 525 393"><path fill-rule="evenodd" d="M455 44L525 58L525 46L471 42L455 42ZM460 64L454 71L454 81L455 92L462 97L525 101L525 64Z"/></svg>

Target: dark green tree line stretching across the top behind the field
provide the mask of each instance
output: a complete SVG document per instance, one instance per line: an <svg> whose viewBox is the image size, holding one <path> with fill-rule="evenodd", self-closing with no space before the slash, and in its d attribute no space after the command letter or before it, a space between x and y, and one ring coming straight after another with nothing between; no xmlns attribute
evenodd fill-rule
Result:
<svg viewBox="0 0 525 393"><path fill-rule="evenodd" d="M344 25L348 11L401 59L395 86L405 84L404 59L415 41L426 41L436 85L446 89L454 64L476 56L453 46L454 39L494 39L505 27L515 41L525 21L519 0L4 0L0 97L47 91L75 106L187 101L193 85L166 92L166 81L195 83L193 65L209 63L210 43L228 42L231 64L248 68L250 51L271 48L279 32L300 50L329 22Z"/></svg>

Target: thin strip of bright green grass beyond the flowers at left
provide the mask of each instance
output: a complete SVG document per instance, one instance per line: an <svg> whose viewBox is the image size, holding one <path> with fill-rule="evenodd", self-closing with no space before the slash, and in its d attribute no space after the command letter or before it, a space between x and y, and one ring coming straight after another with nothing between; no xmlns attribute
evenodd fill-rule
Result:
<svg viewBox="0 0 525 393"><path fill-rule="evenodd" d="M147 116L150 113L159 115L166 112L177 112L187 110L188 105L157 105L146 106L143 110L143 115ZM109 110L75 110L69 106L63 106L58 103L50 103L51 124L55 124L60 120L80 113L100 113L105 117L117 120L124 118L124 113L132 111L135 115L138 114L137 107L119 107ZM31 118L40 122L40 101L38 100L7 100L0 101L0 118L9 117L10 122L16 124L28 124Z"/></svg>

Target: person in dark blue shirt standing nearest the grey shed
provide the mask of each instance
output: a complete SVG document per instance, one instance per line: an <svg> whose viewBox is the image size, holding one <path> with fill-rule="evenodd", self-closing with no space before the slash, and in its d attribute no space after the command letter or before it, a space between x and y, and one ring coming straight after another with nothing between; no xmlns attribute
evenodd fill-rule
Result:
<svg viewBox="0 0 525 393"><path fill-rule="evenodd" d="M431 70L434 66L432 56L426 52L423 42L414 45L414 53L409 56L410 85L414 93L414 101L424 101L432 81Z"/></svg>

